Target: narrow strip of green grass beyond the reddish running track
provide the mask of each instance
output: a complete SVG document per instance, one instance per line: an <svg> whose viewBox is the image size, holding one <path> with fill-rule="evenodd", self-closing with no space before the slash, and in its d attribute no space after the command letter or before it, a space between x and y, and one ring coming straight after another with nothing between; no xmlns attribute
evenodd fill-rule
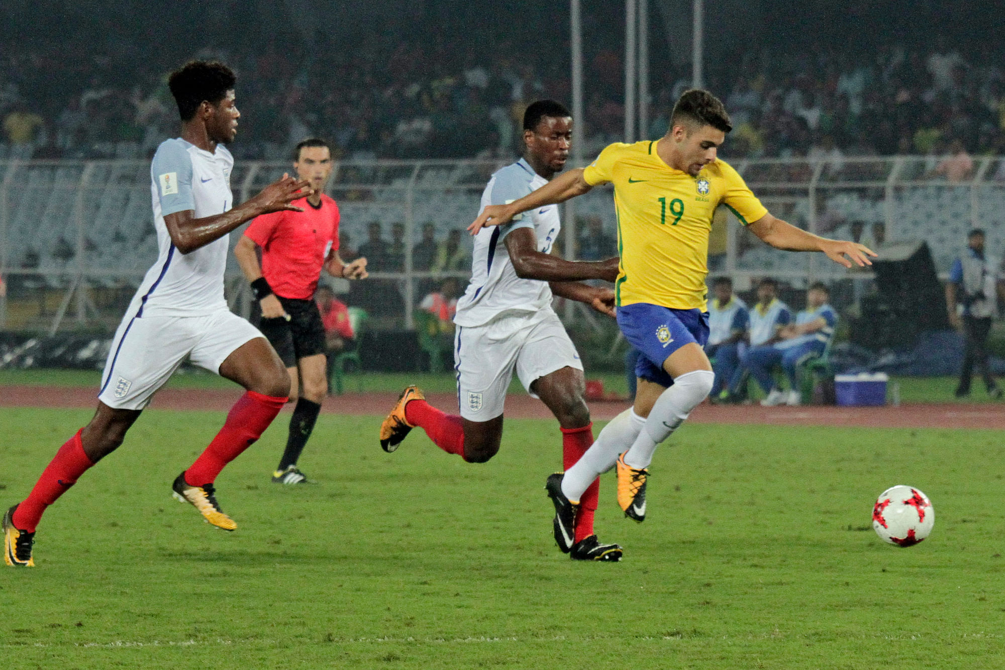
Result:
<svg viewBox="0 0 1005 670"><path fill-rule="evenodd" d="M51 385L51 386L100 386L102 374L87 370L0 370L0 387L13 384ZM604 383L606 392L624 394L626 390L623 375L613 373L592 373L587 371L587 378L599 379ZM454 393L457 390L452 374L432 375L429 373L365 373L362 376L352 375L346 384L350 392L398 392L409 384L418 384L429 393ZM980 383L974 384L974 391L969 398L957 399L953 396L956 388L956 378L952 377L899 377L891 380L899 389L900 402L903 403L989 403L992 401L984 393ZM751 389L756 385L751 384ZM176 389L232 389L232 382L201 370L185 370L176 374L168 382L168 388ZM510 386L511 393L524 393L520 382L514 379ZM2 393L2 391L0 391ZM892 398L892 388L889 397Z"/></svg>

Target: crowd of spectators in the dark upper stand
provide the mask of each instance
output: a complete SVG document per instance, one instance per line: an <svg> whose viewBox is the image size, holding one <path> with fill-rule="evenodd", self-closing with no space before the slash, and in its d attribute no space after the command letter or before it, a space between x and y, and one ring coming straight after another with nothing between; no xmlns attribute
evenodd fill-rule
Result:
<svg viewBox="0 0 1005 670"><path fill-rule="evenodd" d="M362 31L352 43L239 40L189 55L237 69L243 118L233 150L245 159L285 160L308 135L328 138L337 158L509 157L528 102L570 97L561 39L527 49L504 36L484 49L408 28ZM146 158L175 132L168 67L142 57L143 44L120 40L113 52L80 36L58 47L0 50L8 148L44 159ZM586 52L587 155L623 138L622 54L596 47ZM953 155L944 169L955 179L970 156L1005 150L1005 68L990 52L965 56L937 39L864 51L744 45L728 60L710 67L708 85L733 117L729 157ZM654 69L648 137L665 132L688 76L687 67Z"/></svg>

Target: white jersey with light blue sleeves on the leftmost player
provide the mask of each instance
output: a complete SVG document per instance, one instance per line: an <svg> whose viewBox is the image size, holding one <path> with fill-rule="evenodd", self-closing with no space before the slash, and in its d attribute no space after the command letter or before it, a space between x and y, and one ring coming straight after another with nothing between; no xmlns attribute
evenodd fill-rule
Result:
<svg viewBox="0 0 1005 670"><path fill-rule="evenodd" d="M197 219L222 214L233 207L230 171L234 158L222 145L216 153L181 138L157 148L150 169L158 258L133 297L127 317L201 316L227 309L223 273L229 236L182 254L171 241L164 217L195 210Z"/></svg>

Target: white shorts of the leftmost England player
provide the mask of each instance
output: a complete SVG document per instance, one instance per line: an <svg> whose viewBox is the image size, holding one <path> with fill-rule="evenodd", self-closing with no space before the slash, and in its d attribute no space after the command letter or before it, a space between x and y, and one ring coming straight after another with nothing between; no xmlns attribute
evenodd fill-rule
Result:
<svg viewBox="0 0 1005 670"><path fill-rule="evenodd" d="M229 310L207 316L123 319L112 341L97 399L117 410L142 410L185 357L219 375L228 356L263 337Z"/></svg>

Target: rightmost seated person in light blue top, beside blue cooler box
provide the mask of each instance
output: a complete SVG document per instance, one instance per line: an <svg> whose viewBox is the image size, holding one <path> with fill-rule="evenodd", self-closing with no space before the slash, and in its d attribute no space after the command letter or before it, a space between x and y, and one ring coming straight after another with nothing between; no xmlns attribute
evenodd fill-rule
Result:
<svg viewBox="0 0 1005 670"><path fill-rule="evenodd" d="M799 405L799 381L796 371L807 360L823 354L827 343L834 336L837 312L827 304L830 290L823 282L810 284L806 291L806 308L796 314L796 322L779 330L778 342L771 347L751 349L747 355L747 365L751 375L757 380L768 397L761 401L765 407L775 405ZM786 394L775 383L771 370L781 364L789 380Z"/></svg>

